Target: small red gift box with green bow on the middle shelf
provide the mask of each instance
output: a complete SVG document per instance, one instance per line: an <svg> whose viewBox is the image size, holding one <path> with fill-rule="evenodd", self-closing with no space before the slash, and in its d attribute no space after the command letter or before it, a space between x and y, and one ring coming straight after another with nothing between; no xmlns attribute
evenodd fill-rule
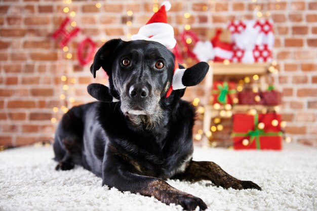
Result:
<svg viewBox="0 0 317 211"><path fill-rule="evenodd" d="M213 84L214 103L233 104L233 99L236 98L236 86L234 82L215 81Z"/></svg>

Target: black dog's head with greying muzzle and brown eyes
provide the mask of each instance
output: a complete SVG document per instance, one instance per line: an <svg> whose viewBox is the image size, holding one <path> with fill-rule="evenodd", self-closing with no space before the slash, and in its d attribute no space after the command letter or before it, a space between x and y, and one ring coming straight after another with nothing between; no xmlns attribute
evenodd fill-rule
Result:
<svg viewBox="0 0 317 211"><path fill-rule="evenodd" d="M195 71L187 69L182 79L185 86L196 85L208 71L207 63L195 66L191 69L200 68L203 74L193 77ZM125 115L150 116L160 111L160 100L166 100L173 81L175 59L173 53L159 42L112 39L95 55L90 68L94 77L100 67L109 76L109 89L105 88L104 91L121 101L121 110ZM91 89L94 87L97 86ZM100 96L109 99L100 90L95 93L98 93L99 100Z"/></svg>

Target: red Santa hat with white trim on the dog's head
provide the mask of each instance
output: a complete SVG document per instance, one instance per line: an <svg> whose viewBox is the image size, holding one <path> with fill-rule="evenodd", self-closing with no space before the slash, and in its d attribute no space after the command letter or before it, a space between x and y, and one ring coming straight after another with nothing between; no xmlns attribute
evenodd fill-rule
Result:
<svg viewBox="0 0 317 211"><path fill-rule="evenodd" d="M174 29L167 23L166 11L171 9L171 3L164 1L159 11L154 13L150 20L140 28L137 34L132 35L132 40L150 40L160 42L167 48L175 47Z"/></svg>

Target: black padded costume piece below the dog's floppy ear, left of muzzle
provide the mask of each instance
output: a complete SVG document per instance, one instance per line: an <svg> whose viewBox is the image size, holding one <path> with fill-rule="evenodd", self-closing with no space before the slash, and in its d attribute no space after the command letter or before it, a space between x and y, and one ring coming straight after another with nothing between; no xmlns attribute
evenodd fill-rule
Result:
<svg viewBox="0 0 317 211"><path fill-rule="evenodd" d="M92 83L87 87L88 93L99 101L111 102L113 97L109 94L109 88L100 83Z"/></svg>

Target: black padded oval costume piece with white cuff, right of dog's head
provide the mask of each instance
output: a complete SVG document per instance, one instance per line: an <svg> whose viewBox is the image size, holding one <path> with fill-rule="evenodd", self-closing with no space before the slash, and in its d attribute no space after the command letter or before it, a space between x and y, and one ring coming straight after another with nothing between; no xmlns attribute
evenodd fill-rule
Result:
<svg viewBox="0 0 317 211"><path fill-rule="evenodd" d="M194 66L187 68L182 77L184 86L195 86L202 82L209 70L209 65L206 62L200 62Z"/></svg>

